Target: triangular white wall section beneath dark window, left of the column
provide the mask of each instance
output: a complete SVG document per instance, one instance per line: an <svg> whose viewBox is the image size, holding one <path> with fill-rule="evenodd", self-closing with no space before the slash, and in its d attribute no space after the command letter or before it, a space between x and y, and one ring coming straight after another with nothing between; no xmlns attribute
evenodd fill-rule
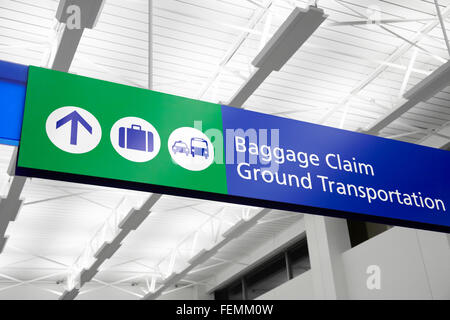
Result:
<svg viewBox="0 0 450 320"><path fill-rule="evenodd" d="M314 298L312 272L309 270L266 292L256 300L311 300Z"/></svg>

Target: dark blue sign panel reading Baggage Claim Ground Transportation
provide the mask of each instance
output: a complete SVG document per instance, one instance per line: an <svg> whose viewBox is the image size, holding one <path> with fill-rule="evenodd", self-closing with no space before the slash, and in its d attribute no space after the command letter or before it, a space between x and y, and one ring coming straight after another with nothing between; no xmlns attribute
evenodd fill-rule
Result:
<svg viewBox="0 0 450 320"><path fill-rule="evenodd" d="M448 151L227 106L222 117L229 195L450 227Z"/></svg>

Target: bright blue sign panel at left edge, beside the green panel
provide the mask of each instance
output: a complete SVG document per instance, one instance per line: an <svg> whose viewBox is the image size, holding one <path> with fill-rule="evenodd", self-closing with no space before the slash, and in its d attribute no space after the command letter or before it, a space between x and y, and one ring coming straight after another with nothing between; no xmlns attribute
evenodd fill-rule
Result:
<svg viewBox="0 0 450 320"><path fill-rule="evenodd" d="M0 61L1 144L19 145L27 78L27 66Z"/></svg>

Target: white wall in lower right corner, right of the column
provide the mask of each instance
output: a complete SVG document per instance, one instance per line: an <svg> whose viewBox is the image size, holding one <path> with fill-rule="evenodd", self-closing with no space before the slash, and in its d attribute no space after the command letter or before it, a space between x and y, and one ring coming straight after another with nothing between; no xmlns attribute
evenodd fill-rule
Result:
<svg viewBox="0 0 450 320"><path fill-rule="evenodd" d="M395 227L343 254L350 299L450 299L446 234ZM381 289L366 285L369 265L381 269Z"/></svg>

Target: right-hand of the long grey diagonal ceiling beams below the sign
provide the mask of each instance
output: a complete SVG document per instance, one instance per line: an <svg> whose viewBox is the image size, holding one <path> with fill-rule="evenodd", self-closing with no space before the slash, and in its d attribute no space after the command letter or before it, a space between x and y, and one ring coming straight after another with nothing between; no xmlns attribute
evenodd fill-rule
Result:
<svg viewBox="0 0 450 320"><path fill-rule="evenodd" d="M249 220L240 220L233 227L224 232L222 234L222 239L217 241L210 249L200 250L200 252L198 252L188 261L188 265L185 268L183 268L179 272L173 272L166 279L164 279L162 285L158 289L153 292L147 293L142 298L142 300L154 300L158 298L161 294L163 294L164 291L186 277L197 266L205 263L208 259L213 257L226 244L241 236L243 233L256 225L258 221L265 215L267 215L270 211L270 209L262 209Z"/></svg>

